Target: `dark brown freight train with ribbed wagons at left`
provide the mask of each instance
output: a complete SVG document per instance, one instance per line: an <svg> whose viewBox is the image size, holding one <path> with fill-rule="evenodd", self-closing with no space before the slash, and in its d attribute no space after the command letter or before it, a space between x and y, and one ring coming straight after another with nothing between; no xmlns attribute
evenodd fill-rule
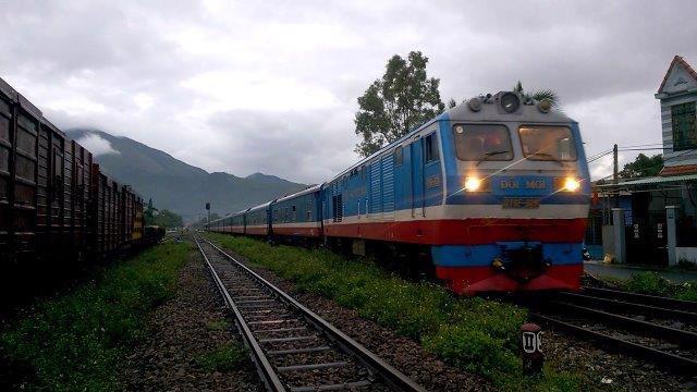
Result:
<svg viewBox="0 0 697 392"><path fill-rule="evenodd" d="M107 259L162 235L144 225L142 196L105 174L89 150L0 78L3 285L27 271Z"/></svg>

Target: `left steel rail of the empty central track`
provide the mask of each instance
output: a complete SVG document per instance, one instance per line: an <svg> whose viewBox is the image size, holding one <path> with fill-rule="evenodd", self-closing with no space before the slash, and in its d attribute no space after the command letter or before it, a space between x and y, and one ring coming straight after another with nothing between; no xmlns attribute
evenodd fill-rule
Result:
<svg viewBox="0 0 697 392"><path fill-rule="evenodd" d="M273 392L285 392L286 389L285 387L283 387L281 379L278 377L278 375L273 370L273 367L271 366L271 362L269 362L269 359L264 354L264 351L261 351L261 347L259 346L259 342L257 342L256 338L252 333L252 329L245 322L244 318L242 317L242 313L240 311L234 301L230 296L230 293L228 292L224 284L222 283L222 280L220 280L218 272L216 272L216 269L213 268L212 264L208 259L208 256L206 256L206 253L201 248L200 243L198 241L196 241L196 245L198 246L198 250L200 252L200 254L204 256L204 260L206 260L206 265L210 270L210 274L213 277L213 281L216 282L216 285L218 286L218 290L220 291L220 294L222 295L225 302L225 306L231 308L235 315L235 324L237 326L240 333L244 338L245 343L249 348L249 356L252 357L252 360L254 362L257 368L257 371L261 377L261 380L266 384L266 388L269 391L273 391Z"/></svg>

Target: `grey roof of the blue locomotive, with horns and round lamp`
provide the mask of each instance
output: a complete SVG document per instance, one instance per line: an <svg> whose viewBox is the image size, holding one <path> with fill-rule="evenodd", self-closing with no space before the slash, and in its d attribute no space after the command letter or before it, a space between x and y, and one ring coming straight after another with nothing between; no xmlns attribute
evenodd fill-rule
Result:
<svg viewBox="0 0 697 392"><path fill-rule="evenodd" d="M494 96L489 95L488 97L476 97L477 99L481 99L484 102L481 103L481 109L479 111L473 111L469 109L469 100L462 101L460 105L455 106L443 112L442 114L433 118L426 123L419 125L418 127L412 130L409 133L400 137L399 139L386 145L380 148L378 151L371 154L370 156L362 159L357 163L350 166L346 170L340 172L335 176L333 176L329 182L332 182L351 170L360 167L377 157L382 156L384 152L392 150L398 145L402 144L404 140L413 137L415 134L424 130L425 127L431 125L432 123L440 120L450 120L450 121L469 121L469 122L529 122L529 123L570 123L574 122L573 119L568 118L562 111L558 109L552 109L548 113L543 113L538 109L538 101L529 100L525 101L525 99L521 100L521 109L515 113L506 113L499 110L499 101L498 97L505 91L501 91ZM519 98L519 96L518 96ZM475 98L472 98L475 99Z"/></svg>

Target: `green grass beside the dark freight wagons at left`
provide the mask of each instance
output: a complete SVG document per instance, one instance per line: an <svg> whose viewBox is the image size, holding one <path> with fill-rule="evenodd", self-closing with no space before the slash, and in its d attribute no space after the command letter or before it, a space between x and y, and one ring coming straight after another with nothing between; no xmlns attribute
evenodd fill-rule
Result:
<svg viewBox="0 0 697 392"><path fill-rule="evenodd" d="M174 293L191 245L168 242L42 301L0 334L12 389L123 390L120 365L146 316ZM4 369L3 369L4 370Z"/></svg>

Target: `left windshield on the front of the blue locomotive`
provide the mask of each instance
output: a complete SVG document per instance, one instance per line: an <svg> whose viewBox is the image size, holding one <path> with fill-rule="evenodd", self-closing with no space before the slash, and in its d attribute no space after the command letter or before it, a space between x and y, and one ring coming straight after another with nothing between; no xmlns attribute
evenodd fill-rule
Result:
<svg viewBox="0 0 697 392"><path fill-rule="evenodd" d="M457 124L453 127L460 160L511 160L513 147L509 128L497 124Z"/></svg>

